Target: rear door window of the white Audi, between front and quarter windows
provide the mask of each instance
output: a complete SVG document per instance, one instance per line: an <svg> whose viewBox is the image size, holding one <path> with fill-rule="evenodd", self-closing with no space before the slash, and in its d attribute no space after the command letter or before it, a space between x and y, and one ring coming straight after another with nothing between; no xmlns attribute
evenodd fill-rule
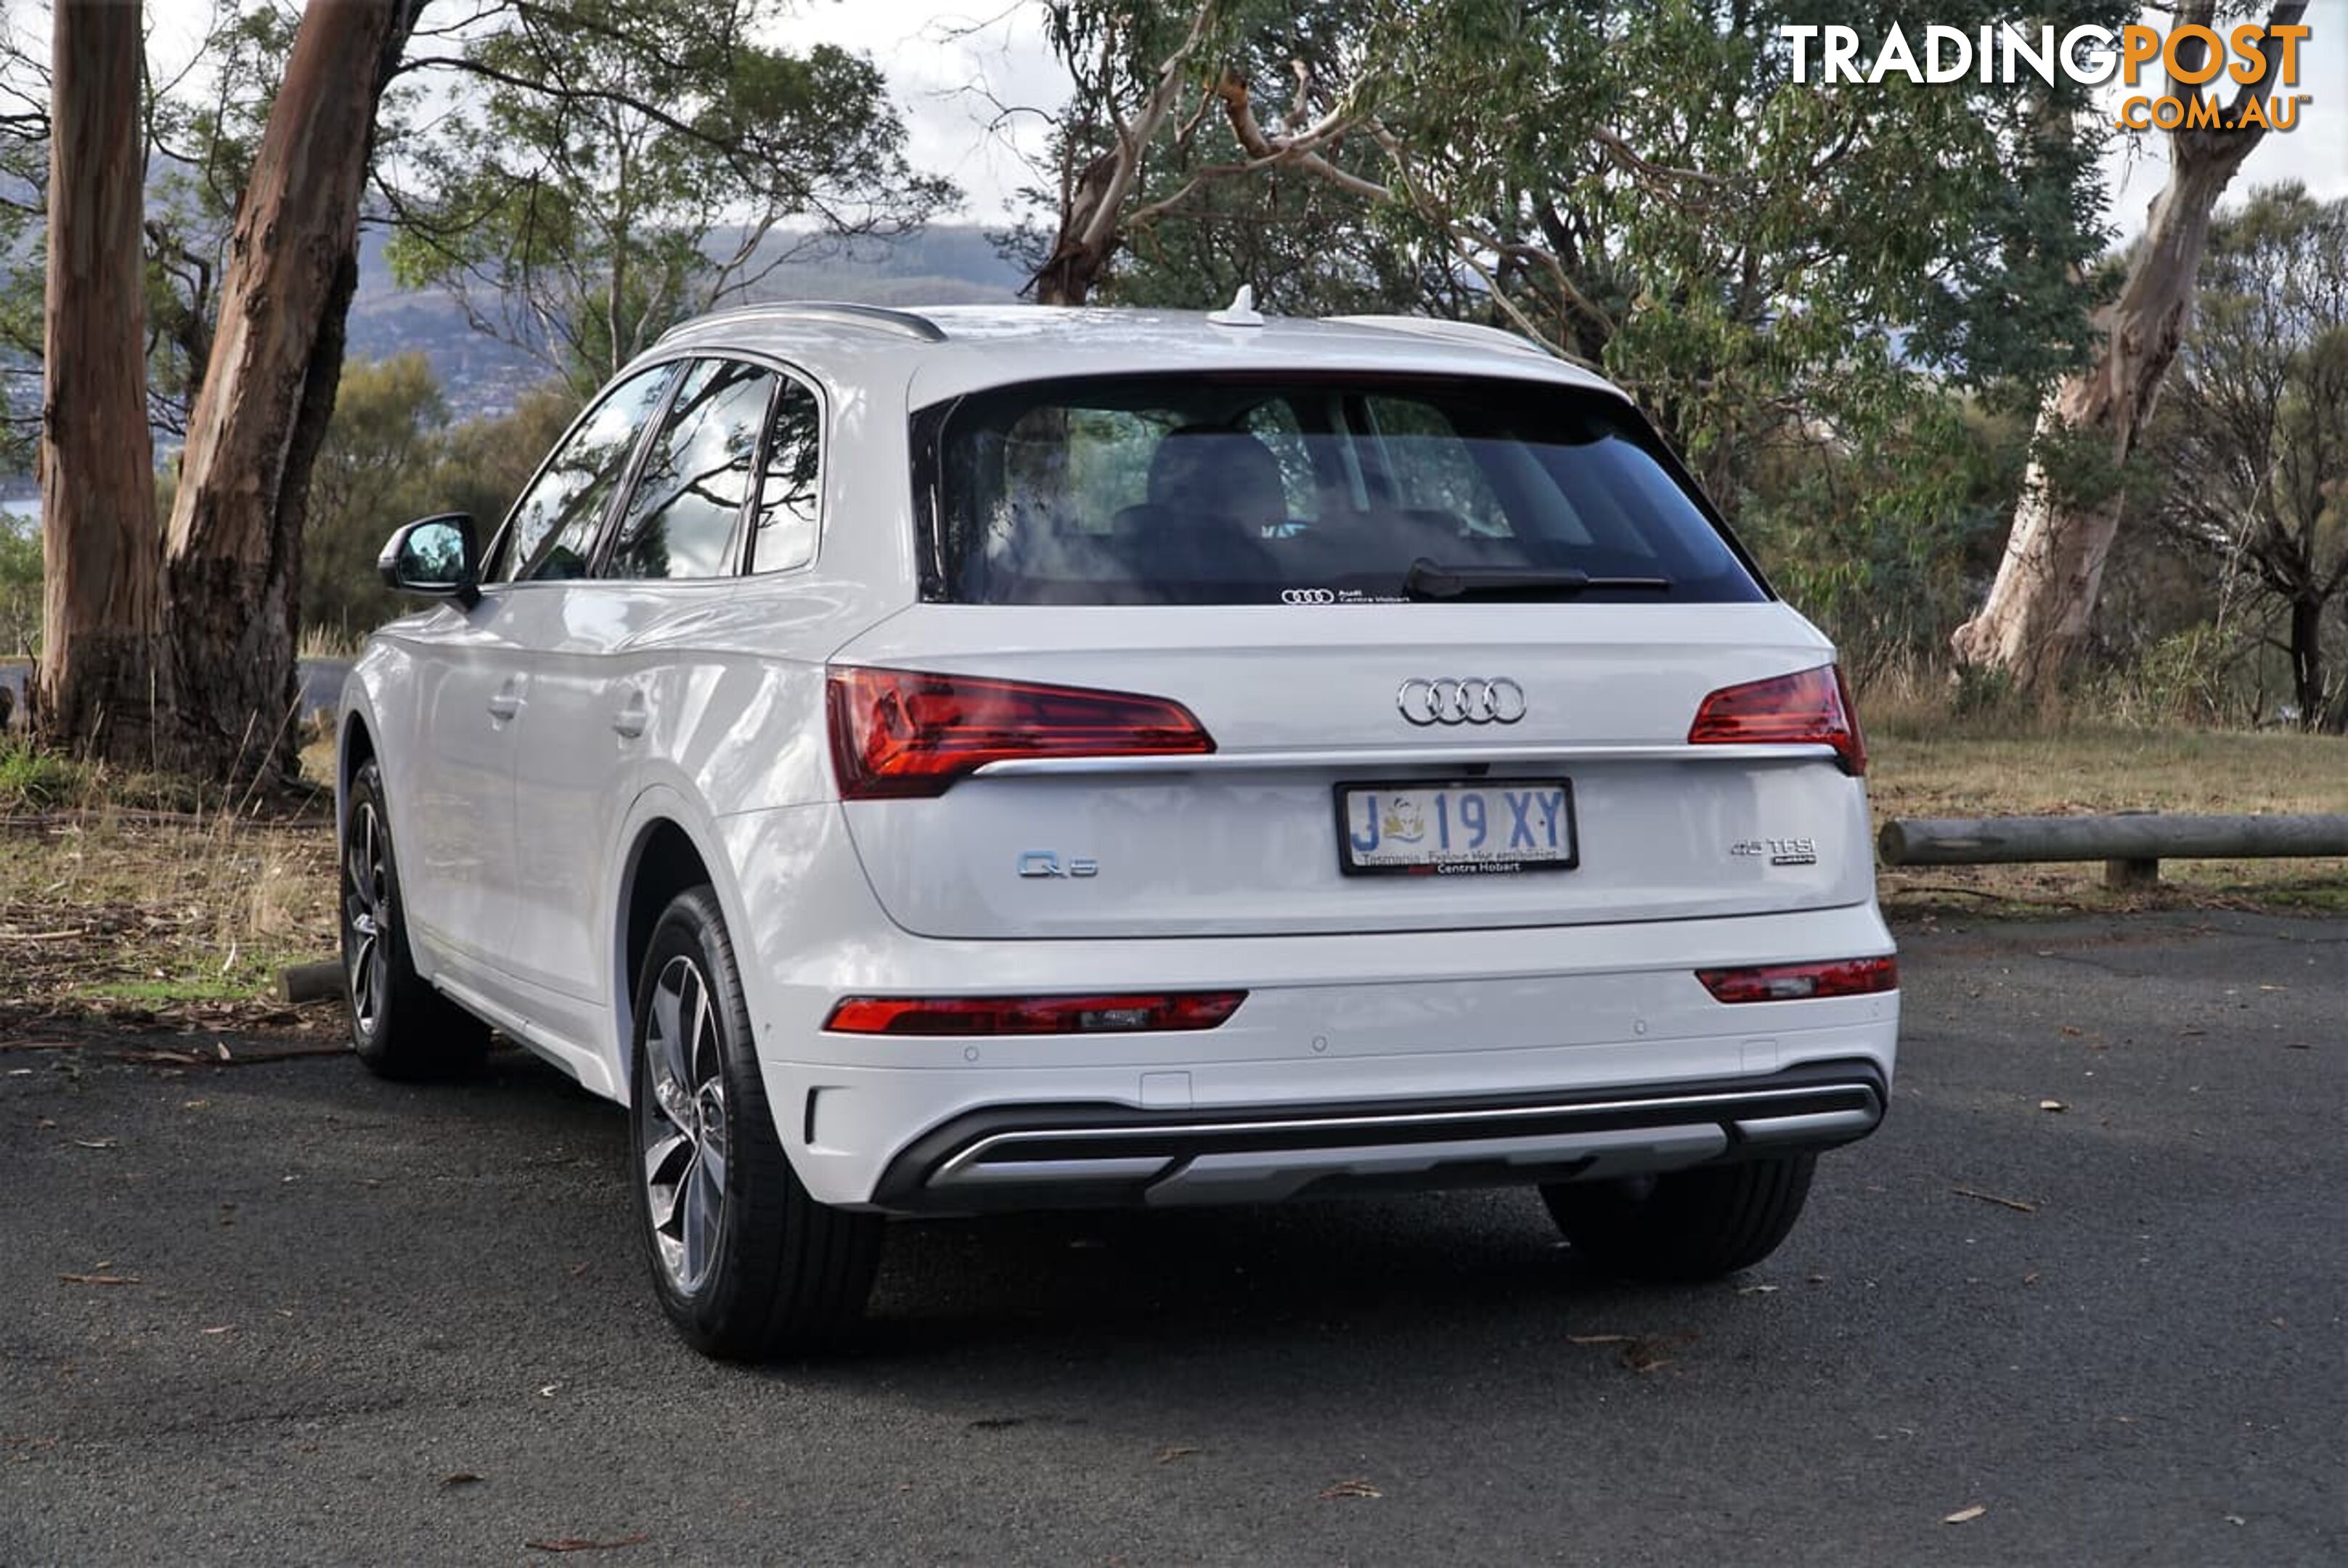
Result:
<svg viewBox="0 0 2348 1568"><path fill-rule="evenodd" d="M643 455L606 577L733 575L772 390L772 371L733 359L702 359L686 373Z"/></svg>

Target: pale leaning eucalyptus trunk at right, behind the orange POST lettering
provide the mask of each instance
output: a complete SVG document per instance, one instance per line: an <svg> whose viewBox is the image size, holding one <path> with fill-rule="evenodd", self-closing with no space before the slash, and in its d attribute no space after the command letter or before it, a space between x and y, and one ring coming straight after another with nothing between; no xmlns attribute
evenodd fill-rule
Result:
<svg viewBox="0 0 2348 1568"><path fill-rule="evenodd" d="M2217 0L2186 0L2177 23L2207 26ZM2275 0L2275 26L2296 23L2306 0ZM2266 77L2238 89L2224 106L2231 122L2252 96L2282 92L2280 47L2266 45ZM2195 61L2184 61L2195 68ZM2219 73L2226 82L2226 73ZM2198 89L2170 82L2191 101ZM2263 129L2170 131L2170 181L2153 200L2151 223L2139 242L2120 298L2099 315L2104 333L2094 361L2066 376L2038 411L2031 467L2015 505L2012 530L1998 577L1979 613L1949 638L1961 664L2003 669L2026 692L2047 695L2085 648L2094 603L2104 587L2104 561L2120 530L2120 484L2137 437L2160 399L2160 380L2177 359L2193 312L2193 282L2209 242L2209 214L2235 169L2263 138ZM2092 477L2052 472L2090 444ZM2109 469L2104 465L2109 462Z"/></svg>

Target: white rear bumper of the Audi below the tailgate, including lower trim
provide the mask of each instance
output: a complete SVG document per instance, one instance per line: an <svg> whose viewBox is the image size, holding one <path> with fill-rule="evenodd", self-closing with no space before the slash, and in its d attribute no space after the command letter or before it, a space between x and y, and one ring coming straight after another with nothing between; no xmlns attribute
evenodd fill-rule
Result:
<svg viewBox="0 0 2348 1568"><path fill-rule="evenodd" d="M808 1192L836 1207L1066 1207L1134 1202L1158 1188L1141 1202L1247 1202L1348 1183L1550 1181L1554 1171L1590 1176L1634 1160L1639 1169L1669 1169L1733 1157L1752 1143L1733 1122L1773 1113L1766 1103L1740 1117L1681 1108L1646 1122L1709 1129L1672 1138L1590 1115L1517 1127L1524 1117L1475 1113L1766 1094L1796 1082L1787 1073L1810 1063L1857 1063L1881 1106L1897 1061L1897 991L1723 1005L1695 974L1890 953L1874 904L1458 932L960 941L890 925L836 810L754 812L721 826L730 852L730 890L721 897L740 932L742 988L775 1131ZM1247 991L1247 1000L1205 1030L895 1038L824 1028L848 995L1108 991ZM1059 1134L1071 1127L1064 1113L1078 1113L1078 1131L1115 1134L1313 1120L1331 1136L1303 1148L1411 1148L1392 1157L1305 1157L1284 1153L1284 1134L1266 1141L1249 1129L1230 1134L1237 1145L1202 1141L1160 1164L1115 1167L1106 1185L1092 1167L1050 1181L1038 1171L989 1171L960 1181L960 1190L951 1181L932 1190L937 1167L963 1153L953 1138L937 1143L949 1129ZM1439 1122L1397 1138L1383 1124L1324 1122L1418 1113L1439 1113ZM1611 1150L1599 1164L1599 1134L1625 1131L1646 1143L1634 1138L1630 1153ZM1843 1136L1829 1131L1820 1143ZM1477 1148L1456 1157L1418 1148L1444 1141ZM1021 1143L1033 1155L1035 1141ZM1111 1150L1106 1157L1153 1160L1118 1138L1094 1143ZM1005 1138L1000 1148L1003 1157L972 1164L1000 1164L1017 1145ZM1254 1164L1266 1150L1282 1160L1259 1181ZM1167 1183L1176 1164L1183 1181ZM1226 1171L1228 1183L1212 1185L1214 1171Z"/></svg>

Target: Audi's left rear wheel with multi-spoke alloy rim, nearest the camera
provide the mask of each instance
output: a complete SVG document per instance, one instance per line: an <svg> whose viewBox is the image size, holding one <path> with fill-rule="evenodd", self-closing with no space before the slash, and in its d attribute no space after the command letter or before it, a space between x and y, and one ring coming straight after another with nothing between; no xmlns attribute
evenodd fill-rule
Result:
<svg viewBox="0 0 2348 1568"><path fill-rule="evenodd" d="M669 1322L730 1361L843 1340L871 1296L883 1221L815 1202L791 1169L709 887L676 894L653 927L632 1047L636 1225Z"/></svg>

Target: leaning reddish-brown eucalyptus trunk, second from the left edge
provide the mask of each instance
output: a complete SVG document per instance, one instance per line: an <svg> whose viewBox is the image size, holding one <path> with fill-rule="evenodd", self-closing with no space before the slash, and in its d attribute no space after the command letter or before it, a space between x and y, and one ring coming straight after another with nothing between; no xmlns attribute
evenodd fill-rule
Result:
<svg viewBox="0 0 2348 1568"><path fill-rule="evenodd" d="M169 756L188 772L298 770L303 514L343 373L376 103L416 7L310 0L237 207L164 556L178 676Z"/></svg>

